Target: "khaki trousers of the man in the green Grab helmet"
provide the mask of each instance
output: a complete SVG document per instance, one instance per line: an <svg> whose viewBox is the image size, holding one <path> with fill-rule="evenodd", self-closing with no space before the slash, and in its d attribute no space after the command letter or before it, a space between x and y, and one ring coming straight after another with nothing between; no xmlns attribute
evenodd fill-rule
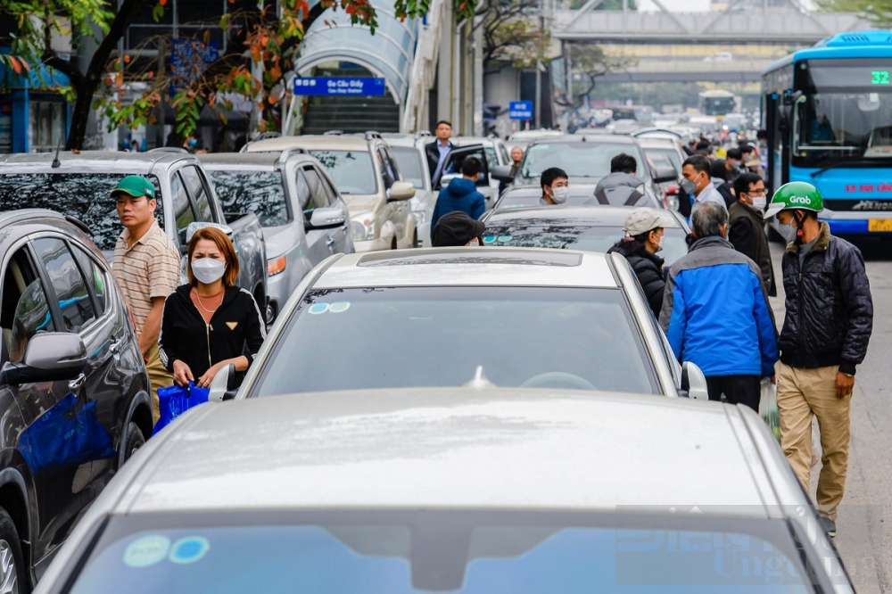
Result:
<svg viewBox="0 0 892 594"><path fill-rule="evenodd" d="M846 491L850 436L851 396L836 396L839 367L799 369L778 363L778 414L780 445L799 483L808 492L811 482L812 417L821 429L822 467L817 504L822 516L834 522Z"/></svg>

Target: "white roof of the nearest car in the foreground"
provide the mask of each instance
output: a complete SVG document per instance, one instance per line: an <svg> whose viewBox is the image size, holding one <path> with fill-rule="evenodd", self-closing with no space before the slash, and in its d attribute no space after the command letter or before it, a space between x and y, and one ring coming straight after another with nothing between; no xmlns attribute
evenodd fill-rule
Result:
<svg viewBox="0 0 892 594"><path fill-rule="evenodd" d="M678 502L767 517L774 496L744 415L717 402L504 388L238 400L194 408L153 437L105 499L121 515L619 505L668 514Z"/></svg>

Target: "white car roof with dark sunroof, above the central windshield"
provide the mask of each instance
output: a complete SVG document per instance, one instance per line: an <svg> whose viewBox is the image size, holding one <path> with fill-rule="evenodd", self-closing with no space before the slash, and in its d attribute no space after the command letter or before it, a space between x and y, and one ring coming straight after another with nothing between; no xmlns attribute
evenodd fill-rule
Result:
<svg viewBox="0 0 892 594"><path fill-rule="evenodd" d="M603 253L541 248L459 247L347 254L314 289L370 286L551 286L615 288Z"/></svg>

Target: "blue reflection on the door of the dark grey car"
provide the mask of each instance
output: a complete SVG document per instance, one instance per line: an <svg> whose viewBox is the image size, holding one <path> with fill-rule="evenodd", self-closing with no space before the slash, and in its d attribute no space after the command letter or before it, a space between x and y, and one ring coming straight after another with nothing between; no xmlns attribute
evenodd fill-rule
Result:
<svg viewBox="0 0 892 594"><path fill-rule="evenodd" d="M19 450L35 474L45 468L79 466L118 453L111 445L111 435L96 417L96 401L78 408L78 397L72 392L21 432Z"/></svg>

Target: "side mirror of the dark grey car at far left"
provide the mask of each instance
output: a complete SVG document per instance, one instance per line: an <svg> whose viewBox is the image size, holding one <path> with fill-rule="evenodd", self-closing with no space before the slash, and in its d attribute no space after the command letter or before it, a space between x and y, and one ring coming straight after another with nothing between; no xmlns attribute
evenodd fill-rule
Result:
<svg viewBox="0 0 892 594"><path fill-rule="evenodd" d="M86 365L87 348L78 334L41 332L28 341L21 363L6 362L0 369L0 384L74 379Z"/></svg>

